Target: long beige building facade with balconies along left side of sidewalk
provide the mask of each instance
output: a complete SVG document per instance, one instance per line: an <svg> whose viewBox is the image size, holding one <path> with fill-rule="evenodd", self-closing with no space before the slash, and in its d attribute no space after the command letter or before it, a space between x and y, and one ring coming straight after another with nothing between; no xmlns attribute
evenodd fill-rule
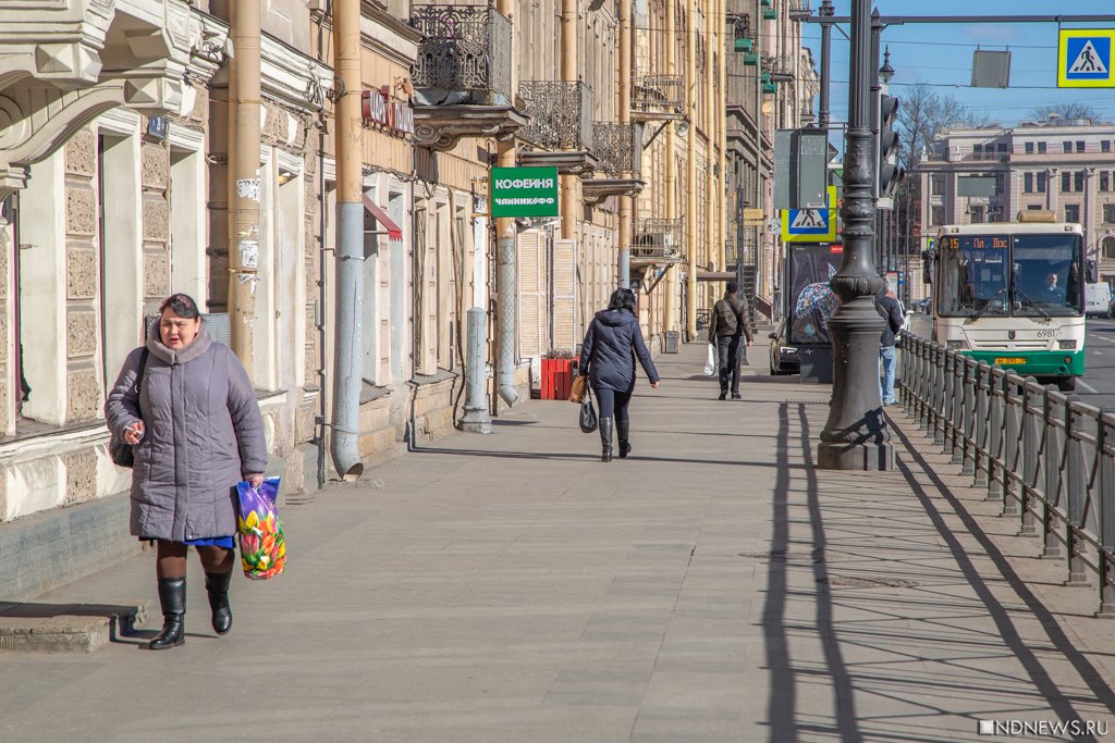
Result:
<svg viewBox="0 0 1115 743"><path fill-rule="evenodd" d="M743 166L727 147L728 0L351 1L361 11L365 461L460 424L469 309L486 319L494 414L537 388L543 356L575 353L617 285L636 291L656 350L668 332L696 336L735 260L724 194ZM194 296L226 342L239 301L230 276L245 258L244 361L269 473L302 499L336 477L322 456L342 371L331 3L259 2L259 173L246 184L232 183L242 6L25 0L0 10L4 595L138 549L126 534L129 472L107 453L106 392L172 292ZM767 7L756 3L757 23ZM754 124L759 102L752 133L735 134L765 133L748 145L764 173L757 203L774 167L773 119ZM491 218L496 165L558 168L560 215ZM259 227L234 234L245 187Z"/></svg>

